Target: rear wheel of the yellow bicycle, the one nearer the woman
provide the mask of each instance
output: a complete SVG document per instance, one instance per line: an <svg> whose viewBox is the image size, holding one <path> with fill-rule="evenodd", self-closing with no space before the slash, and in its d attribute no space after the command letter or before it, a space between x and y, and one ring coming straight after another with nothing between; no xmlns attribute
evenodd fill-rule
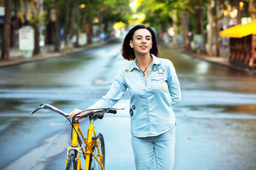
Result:
<svg viewBox="0 0 256 170"><path fill-rule="evenodd" d="M95 154L95 156L97 157L97 159L99 159L99 160L100 160L99 155L100 154L103 155L103 157L102 157L102 165L103 165L103 167L105 167L105 143L104 143L103 135L101 133L99 133L99 135L97 135L97 142L99 143L100 153L98 152L96 143L95 143L95 146L92 148L92 151ZM90 166L89 166L89 169L90 170L102 170L102 167L97 162L95 157L92 156L92 154L90 155Z"/></svg>

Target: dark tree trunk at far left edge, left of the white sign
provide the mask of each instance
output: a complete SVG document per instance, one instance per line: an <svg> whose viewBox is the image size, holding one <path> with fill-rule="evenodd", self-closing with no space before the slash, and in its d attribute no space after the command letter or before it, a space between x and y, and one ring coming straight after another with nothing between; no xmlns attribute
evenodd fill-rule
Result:
<svg viewBox="0 0 256 170"><path fill-rule="evenodd" d="M1 60L9 60L11 32L11 1L5 0L4 31L1 44Z"/></svg>

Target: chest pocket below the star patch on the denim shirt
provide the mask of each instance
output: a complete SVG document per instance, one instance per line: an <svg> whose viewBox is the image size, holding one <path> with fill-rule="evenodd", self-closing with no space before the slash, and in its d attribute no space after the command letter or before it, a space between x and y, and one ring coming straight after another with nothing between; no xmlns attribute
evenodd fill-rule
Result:
<svg viewBox="0 0 256 170"><path fill-rule="evenodd" d="M164 75L151 77L151 87L154 90L167 90L168 84L166 77Z"/></svg>

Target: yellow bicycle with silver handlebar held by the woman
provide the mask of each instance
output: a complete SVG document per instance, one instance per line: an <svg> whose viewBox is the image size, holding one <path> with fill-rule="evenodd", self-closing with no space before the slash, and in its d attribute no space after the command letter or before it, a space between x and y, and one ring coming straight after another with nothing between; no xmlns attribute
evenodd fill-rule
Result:
<svg viewBox="0 0 256 170"><path fill-rule="evenodd" d="M102 119L105 113L113 113L116 114L117 108L98 108L98 109L91 109L91 110L84 110L75 115L72 120L70 120L69 113L65 113L55 106L51 106L49 104L41 104L35 111L31 112L36 113L36 111L40 110L41 108L48 109L50 111L54 111L63 115L67 118L72 126L71 130L71 139L72 144L68 147L67 150L67 157L65 163L65 170L70 169L82 169L81 164L81 157L82 154L85 159L85 170L97 170L101 169L104 170L105 168L105 142L104 137L101 133L96 134L94 128L94 122L97 119ZM123 108L121 108L123 109ZM83 112L87 112L84 115L80 115ZM90 119L89 128L87 130L87 138L82 134L82 130L79 128L79 120L75 120L75 118L87 118ZM82 137L82 140L81 140ZM82 141L85 142L85 149L82 146Z"/></svg>

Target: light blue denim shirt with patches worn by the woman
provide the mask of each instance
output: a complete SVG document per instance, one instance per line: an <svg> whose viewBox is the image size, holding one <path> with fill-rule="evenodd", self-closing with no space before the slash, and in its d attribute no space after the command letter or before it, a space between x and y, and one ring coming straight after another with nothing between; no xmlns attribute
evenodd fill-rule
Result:
<svg viewBox="0 0 256 170"><path fill-rule="evenodd" d="M172 62L151 57L153 63L146 81L135 59L120 70L107 94L90 107L110 108L128 89L131 132L136 137L156 136L170 130L176 121L172 106L181 101L181 89Z"/></svg>

